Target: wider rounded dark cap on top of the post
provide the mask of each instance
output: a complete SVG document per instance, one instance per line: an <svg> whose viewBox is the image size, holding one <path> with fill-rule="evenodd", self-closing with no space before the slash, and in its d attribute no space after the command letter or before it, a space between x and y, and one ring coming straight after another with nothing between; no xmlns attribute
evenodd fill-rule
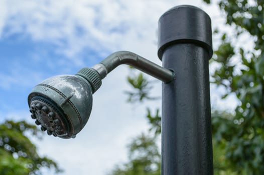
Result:
<svg viewBox="0 0 264 175"><path fill-rule="evenodd" d="M209 15L192 5L179 5L166 11L159 19L158 56L166 47L177 43L198 44L209 52L211 57L212 29Z"/></svg>

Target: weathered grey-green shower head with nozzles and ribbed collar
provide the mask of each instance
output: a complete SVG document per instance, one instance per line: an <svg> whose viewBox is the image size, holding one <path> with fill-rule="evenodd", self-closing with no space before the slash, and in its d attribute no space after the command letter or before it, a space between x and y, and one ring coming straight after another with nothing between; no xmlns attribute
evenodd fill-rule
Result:
<svg viewBox="0 0 264 175"><path fill-rule="evenodd" d="M76 75L50 77L29 94L31 117L48 135L74 138L89 118L92 93L100 85L100 76L92 68L82 68Z"/></svg>

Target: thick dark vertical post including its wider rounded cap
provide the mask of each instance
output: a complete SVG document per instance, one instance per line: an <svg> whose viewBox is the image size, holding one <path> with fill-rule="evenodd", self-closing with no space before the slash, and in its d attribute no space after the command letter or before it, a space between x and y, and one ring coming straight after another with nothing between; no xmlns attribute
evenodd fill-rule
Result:
<svg viewBox="0 0 264 175"><path fill-rule="evenodd" d="M210 17L194 6L176 6L161 16L158 34L159 58L176 75L163 83L161 174L213 174Z"/></svg>

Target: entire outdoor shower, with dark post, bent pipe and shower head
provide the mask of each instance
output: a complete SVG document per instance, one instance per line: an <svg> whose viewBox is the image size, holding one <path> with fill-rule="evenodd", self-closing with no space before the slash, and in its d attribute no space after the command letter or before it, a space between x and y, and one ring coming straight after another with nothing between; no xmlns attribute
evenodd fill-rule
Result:
<svg viewBox="0 0 264 175"><path fill-rule="evenodd" d="M134 66L162 83L161 174L213 174L209 59L209 15L191 5L159 19L158 56L163 67L128 51L118 51L75 75L58 75L35 86L28 97L32 118L49 135L75 137L86 124L92 94L119 64Z"/></svg>

